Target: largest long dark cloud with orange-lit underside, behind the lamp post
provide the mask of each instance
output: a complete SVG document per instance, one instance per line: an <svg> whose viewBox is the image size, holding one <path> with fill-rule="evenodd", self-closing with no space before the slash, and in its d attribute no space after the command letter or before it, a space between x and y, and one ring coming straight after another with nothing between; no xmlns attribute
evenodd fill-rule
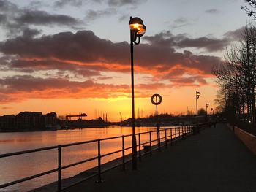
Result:
<svg viewBox="0 0 256 192"><path fill-rule="evenodd" d="M214 56L194 55L189 51L177 53L170 39L161 42L155 37L148 37L148 40L151 45L136 47L135 67L138 72L164 77L173 66L181 65L191 69L187 70L189 73L201 71L211 74L212 66L220 62L220 58ZM129 44L100 39L92 31L63 32L37 38L16 37L1 42L0 51L5 55L16 55L17 58L9 64L12 69L57 69L91 75L99 75L95 72L130 70Z"/></svg>

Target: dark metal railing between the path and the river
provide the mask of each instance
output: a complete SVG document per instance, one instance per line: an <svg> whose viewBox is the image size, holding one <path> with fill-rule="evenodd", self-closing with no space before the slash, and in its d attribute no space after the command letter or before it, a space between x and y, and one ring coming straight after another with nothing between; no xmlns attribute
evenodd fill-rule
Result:
<svg viewBox="0 0 256 192"><path fill-rule="evenodd" d="M197 126L200 126L200 125L198 124ZM176 143L176 142L184 139L185 137L188 137L189 135L191 135L193 133L193 126L180 126L180 127L175 127L175 128L164 128L164 129L160 129L159 132L160 132L160 139L159 139L160 144L159 145L153 145L154 142L158 142L158 139L152 139L152 134L157 134L157 131L147 131L147 132L142 132L142 133L136 134L136 137L138 137L137 150L138 150L138 159L139 159L139 161L141 161L141 157L143 155L148 155L148 154L152 155L152 152L154 150L157 150L157 149L159 150L159 147L162 147L162 146L167 147L168 142L170 143L170 145L173 145L173 142ZM164 134L163 137L161 137L161 133ZM141 136L143 134L148 134L148 141L147 142L141 142ZM127 137L132 137L132 134L122 135L122 136L118 136L118 137L108 137L108 138L104 138L104 139L94 139L94 140L89 140L89 141L85 141L85 142L75 142L75 143L69 143L69 144L65 144L65 145L42 147L42 148L37 148L37 149L33 149L33 150L23 150L23 151L15 152L15 153L0 154L0 158L7 158L7 157L15 156L15 155L23 155L23 154L27 154L27 153L35 153L35 152L39 152L39 151L46 151L46 150L53 150L53 149L56 149L57 152L58 152L58 166L56 167L56 169L50 169L46 172L40 172L38 174L34 174L32 176L29 176L29 177L23 177L19 180L15 180L15 181L12 181L12 182L9 182L9 183L1 184L0 189L1 188L6 188L10 185L23 183L27 180L32 180L32 179L37 178L37 177L42 177L46 174L51 174L53 172L58 173L58 177L57 177L58 191L64 191L65 189L70 188L73 185L77 185L78 183L81 183L85 180L89 180L91 177L95 177L95 176L97 176L97 182L101 182L102 181L102 173L107 172L108 170L113 169L117 166L122 166L122 169L125 169L125 164L127 162L131 161L131 158L130 158L131 153L125 155L125 152L127 150L132 149L132 146L131 147L125 147L125 138L127 138ZM115 151L112 151L110 153L106 153L106 154L102 155L102 153L101 153L101 143L102 143L102 141L111 140L111 139L118 139L118 138L121 139L121 145L122 145L121 149L120 150L115 150ZM83 161L78 161L78 162L68 164L68 165L65 165L65 166L63 166L61 164L61 160L62 160L61 150L64 147L71 147L71 146L75 146L75 145L83 145L83 144L89 144L89 143L97 143L97 152L98 152L97 156L94 156L92 158L86 158ZM142 148L141 147L144 147L144 148L148 147L149 151L145 152L145 149L144 149L144 153L142 153ZM102 162L101 162L102 158L104 158L106 156L109 156L109 155L113 155L115 153L121 153L121 163L118 162L114 166L111 166L108 169L102 170ZM83 178L83 180L80 180L76 183L73 183L72 185L69 185L65 188L62 187L62 175L61 175L62 170L68 169L72 166L78 166L80 164L85 164L86 162L94 161L94 160L97 160L97 173L91 174L90 176L88 176L86 178Z"/></svg>

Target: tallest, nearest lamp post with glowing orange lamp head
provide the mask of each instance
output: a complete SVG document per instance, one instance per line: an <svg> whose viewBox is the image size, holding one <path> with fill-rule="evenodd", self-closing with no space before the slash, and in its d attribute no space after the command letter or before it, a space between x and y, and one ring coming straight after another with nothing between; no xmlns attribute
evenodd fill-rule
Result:
<svg viewBox="0 0 256 192"><path fill-rule="evenodd" d="M137 144L135 135L135 93L134 93L134 69L133 69L133 43L140 44L140 37L146 32L146 26L140 18L129 19L130 49L131 49L131 79L132 79L132 169L137 169Z"/></svg>

